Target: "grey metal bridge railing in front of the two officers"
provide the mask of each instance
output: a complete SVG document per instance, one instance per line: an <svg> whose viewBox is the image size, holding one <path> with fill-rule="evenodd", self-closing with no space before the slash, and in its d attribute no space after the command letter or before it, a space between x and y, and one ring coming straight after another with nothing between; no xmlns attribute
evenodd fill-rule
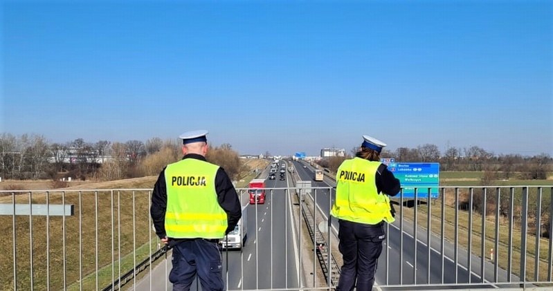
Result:
<svg viewBox="0 0 553 291"><path fill-rule="evenodd" d="M237 190L246 204L247 189ZM224 250L227 289L334 288L341 265L338 224L328 215L334 188L313 187L303 207L296 187L266 190L267 203L248 206L246 245ZM417 189L413 198L400 194L379 259L379 288L551 290L552 190L439 187L437 198L430 189ZM0 290L118 290L123 281L134 290L159 290L154 284L167 285L170 262L154 262L161 245L150 200L149 189L0 191ZM325 241L324 266L317 236Z"/></svg>

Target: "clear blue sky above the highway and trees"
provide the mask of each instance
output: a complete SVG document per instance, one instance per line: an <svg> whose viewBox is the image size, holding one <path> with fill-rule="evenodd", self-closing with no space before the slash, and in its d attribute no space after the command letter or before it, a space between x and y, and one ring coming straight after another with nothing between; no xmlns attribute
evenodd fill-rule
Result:
<svg viewBox="0 0 553 291"><path fill-rule="evenodd" d="M553 155L552 1L3 1L0 133Z"/></svg>

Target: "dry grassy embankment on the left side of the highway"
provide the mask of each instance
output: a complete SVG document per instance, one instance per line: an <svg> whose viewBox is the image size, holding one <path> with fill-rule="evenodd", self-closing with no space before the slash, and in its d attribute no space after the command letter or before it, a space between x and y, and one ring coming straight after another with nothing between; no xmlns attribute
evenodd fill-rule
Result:
<svg viewBox="0 0 553 291"><path fill-rule="evenodd" d="M257 175L253 169L264 168L268 161L246 160L244 163L246 167L244 173L239 175L241 178L236 187L245 187L248 179ZM132 270L136 263L147 259L150 252L153 253L158 248L158 239L149 221L149 189L152 189L156 178L151 176L78 185L55 189L48 195L46 192L33 192L30 197L33 204L46 204L47 198L51 205L62 204L64 200L66 205L74 205L74 214L66 216L65 221L60 216L50 216L48 220L46 216L33 216L30 220L28 216L15 216L15 259L14 243L10 235L13 234L13 216L0 216L0 232L6 235L0 241L0 290L14 288L14 261L17 264L18 290L31 290L31 281L34 290L46 290L48 278L51 290L61 290L64 287L80 290L81 284L82 290L96 290L97 286L102 289L112 279ZM0 197L0 203L12 205L14 198L15 203L26 205L30 199L28 192L15 197L8 194ZM31 224L32 234L29 230Z"/></svg>

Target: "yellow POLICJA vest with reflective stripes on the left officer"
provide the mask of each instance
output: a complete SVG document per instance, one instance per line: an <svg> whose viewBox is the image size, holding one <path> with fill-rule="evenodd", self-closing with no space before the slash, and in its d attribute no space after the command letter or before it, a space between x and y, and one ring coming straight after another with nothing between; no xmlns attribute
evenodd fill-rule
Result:
<svg viewBox="0 0 553 291"><path fill-rule="evenodd" d="M165 232L170 238L223 238L226 212L217 201L219 166L186 158L167 165Z"/></svg>

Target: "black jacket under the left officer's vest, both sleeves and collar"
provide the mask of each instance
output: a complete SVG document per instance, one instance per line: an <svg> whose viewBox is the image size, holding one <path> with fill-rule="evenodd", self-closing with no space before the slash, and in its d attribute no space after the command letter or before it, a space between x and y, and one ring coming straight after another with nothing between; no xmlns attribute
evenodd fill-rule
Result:
<svg viewBox="0 0 553 291"><path fill-rule="evenodd" d="M195 153L189 153L183 157L194 158L197 160L205 161L201 155ZM233 186L233 182L230 181L225 170L221 167L217 170L215 175L215 191L217 191L217 201L221 208L226 212L228 227L225 234L232 231L238 224L238 220L242 216L242 207L238 198L238 194ZM152 207L149 212L152 215L154 227L156 227L156 234L159 238L165 238L165 210L167 209L167 187L165 184L165 168L159 174L158 180L154 185L154 191L152 193Z"/></svg>

